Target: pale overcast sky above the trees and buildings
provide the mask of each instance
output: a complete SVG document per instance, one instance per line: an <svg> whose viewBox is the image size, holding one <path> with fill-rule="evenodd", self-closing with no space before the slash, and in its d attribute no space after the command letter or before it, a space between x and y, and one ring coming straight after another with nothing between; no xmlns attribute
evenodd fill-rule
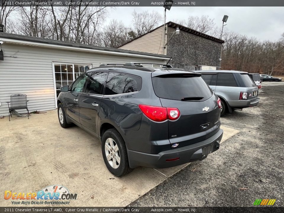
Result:
<svg viewBox="0 0 284 213"><path fill-rule="evenodd" d="M116 7L112 9L106 22L117 19L130 26L134 9L137 12L156 10L163 14L164 8ZM284 33L284 7L172 7L167 11L166 22L187 19L190 15L209 15L218 26L222 26L223 16L228 15L227 30L256 37L261 41L275 41Z"/></svg>

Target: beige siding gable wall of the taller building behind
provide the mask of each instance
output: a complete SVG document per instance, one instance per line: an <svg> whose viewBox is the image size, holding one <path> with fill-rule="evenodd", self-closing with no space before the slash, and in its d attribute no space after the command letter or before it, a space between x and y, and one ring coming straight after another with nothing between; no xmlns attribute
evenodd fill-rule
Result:
<svg viewBox="0 0 284 213"><path fill-rule="evenodd" d="M125 50L154 53L154 54L163 54L163 43L164 43L163 29L164 26L157 28L151 33L142 35L140 38L137 38L119 48ZM165 40L167 40L167 36L165 37ZM165 43L167 43L167 41L165 41ZM164 55L166 55L166 50L164 51Z"/></svg>

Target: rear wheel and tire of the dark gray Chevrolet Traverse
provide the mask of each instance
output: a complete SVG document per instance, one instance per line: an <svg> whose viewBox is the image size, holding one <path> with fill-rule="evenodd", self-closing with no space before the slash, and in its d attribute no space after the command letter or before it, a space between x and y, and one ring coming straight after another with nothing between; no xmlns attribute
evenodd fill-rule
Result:
<svg viewBox="0 0 284 213"><path fill-rule="evenodd" d="M113 175L121 177L133 170L129 167L125 142L117 130L106 130L101 139L101 152L107 169Z"/></svg>

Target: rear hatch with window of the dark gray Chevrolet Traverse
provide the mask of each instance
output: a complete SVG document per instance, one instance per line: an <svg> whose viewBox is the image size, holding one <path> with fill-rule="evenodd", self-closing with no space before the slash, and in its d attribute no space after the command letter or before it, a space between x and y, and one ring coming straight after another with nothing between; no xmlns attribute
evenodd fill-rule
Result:
<svg viewBox="0 0 284 213"><path fill-rule="evenodd" d="M200 76L193 72L152 73L154 92L162 106L180 111L177 120L168 120L172 148L205 140L220 128L218 98Z"/></svg>

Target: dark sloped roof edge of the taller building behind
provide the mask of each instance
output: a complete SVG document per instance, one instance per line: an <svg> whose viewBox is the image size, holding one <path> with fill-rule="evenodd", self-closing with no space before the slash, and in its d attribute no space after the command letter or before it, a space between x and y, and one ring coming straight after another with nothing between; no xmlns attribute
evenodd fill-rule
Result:
<svg viewBox="0 0 284 213"><path fill-rule="evenodd" d="M215 37L213 37L213 36L211 36L211 35L207 35L207 34L205 34L205 33L201 33L201 32L199 32L199 31L193 30L193 29L191 29L191 28L185 27L185 26L180 25L180 24L177 24L177 23L175 23L175 22L169 21L169 22L166 23L166 25L167 25L168 27L171 27L171 28L179 28L181 31L184 31L184 32L186 32L186 33L190 33L190 34L192 34L192 35L196 35L196 36L199 36L199 37L202 37L202 38L205 38L205 39L209 39L209 40L215 41L215 42L217 42L217 43L224 43L224 42L225 42L225 41L223 41L223 40L221 40L221 39L219 39L219 38L215 38ZM161 26L159 26L159 27L157 27L157 28L155 28L155 29L149 31L148 33L151 33L151 32L153 32L154 30L156 30L156 29L158 29L158 28L160 28L160 27L162 27L162 26L164 26L164 25L161 25ZM145 33L145 34L143 34L143 35L146 35L146 34L148 34L148 33ZM140 35L140 36L138 36L137 38L141 38L143 35ZM134 39L132 39L131 41L134 41L134 40L136 40L137 38L134 38ZM119 46L119 47L122 47L122 46L124 46L125 44L130 43L131 41L128 41L128 42L122 44L122 45ZM118 48L119 48L119 47L118 47Z"/></svg>

